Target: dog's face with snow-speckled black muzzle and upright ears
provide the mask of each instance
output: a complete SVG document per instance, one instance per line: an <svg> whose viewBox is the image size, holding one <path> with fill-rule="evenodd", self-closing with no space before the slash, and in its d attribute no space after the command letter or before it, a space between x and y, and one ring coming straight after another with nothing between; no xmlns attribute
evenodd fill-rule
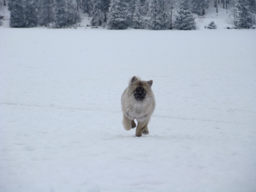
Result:
<svg viewBox="0 0 256 192"><path fill-rule="evenodd" d="M152 86L152 84L153 80L141 81L134 76L130 82L134 98L138 101L142 101L143 99L145 99L148 91L151 91L150 87Z"/></svg>

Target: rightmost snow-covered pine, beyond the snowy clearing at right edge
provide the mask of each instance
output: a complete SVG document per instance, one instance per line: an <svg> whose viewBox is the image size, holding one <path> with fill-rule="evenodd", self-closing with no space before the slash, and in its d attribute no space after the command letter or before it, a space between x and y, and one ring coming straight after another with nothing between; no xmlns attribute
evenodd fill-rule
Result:
<svg viewBox="0 0 256 192"><path fill-rule="evenodd" d="M234 13L234 24L237 28L249 29L252 27L253 13L247 0L235 0L235 6L232 8Z"/></svg>

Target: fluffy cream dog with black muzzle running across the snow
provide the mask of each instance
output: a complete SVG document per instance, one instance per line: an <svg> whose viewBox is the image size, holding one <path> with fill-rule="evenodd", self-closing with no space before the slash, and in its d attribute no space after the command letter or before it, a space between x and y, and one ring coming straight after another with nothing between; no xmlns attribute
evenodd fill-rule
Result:
<svg viewBox="0 0 256 192"><path fill-rule="evenodd" d="M129 131L136 127L136 136L147 135L148 122L155 109L155 97L151 86L153 80L142 81L137 77L130 80L129 86L124 90L121 98L124 129Z"/></svg>

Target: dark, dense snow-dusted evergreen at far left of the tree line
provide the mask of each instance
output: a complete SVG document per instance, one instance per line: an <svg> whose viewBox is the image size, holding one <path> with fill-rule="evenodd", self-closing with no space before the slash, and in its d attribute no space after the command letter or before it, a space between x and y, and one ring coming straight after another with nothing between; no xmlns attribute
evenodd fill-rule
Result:
<svg viewBox="0 0 256 192"><path fill-rule="evenodd" d="M38 23L37 0L9 0L11 27L35 27Z"/></svg>

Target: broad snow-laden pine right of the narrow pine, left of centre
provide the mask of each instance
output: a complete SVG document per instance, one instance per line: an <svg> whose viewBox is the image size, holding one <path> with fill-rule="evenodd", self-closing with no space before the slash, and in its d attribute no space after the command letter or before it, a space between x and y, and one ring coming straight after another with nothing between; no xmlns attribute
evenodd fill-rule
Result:
<svg viewBox="0 0 256 192"><path fill-rule="evenodd" d="M127 29L129 27L129 6L125 0L111 0L108 27L109 29Z"/></svg>

